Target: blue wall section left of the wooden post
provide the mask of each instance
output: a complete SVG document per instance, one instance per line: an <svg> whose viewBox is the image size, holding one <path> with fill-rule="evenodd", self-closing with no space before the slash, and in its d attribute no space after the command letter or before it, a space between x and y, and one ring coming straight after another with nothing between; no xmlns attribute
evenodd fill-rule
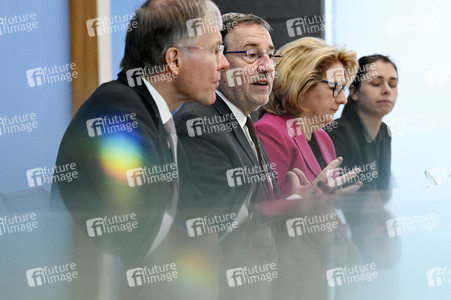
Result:
<svg viewBox="0 0 451 300"><path fill-rule="evenodd" d="M55 164L71 118L70 82L30 87L26 76L29 69L71 63L69 7L59 0L2 1L0 12L2 20L29 14L36 22L31 31L19 32L0 24L0 118L34 113L37 121L32 131L11 134L0 124L0 193L7 193L29 188L26 170ZM50 190L50 184L42 187Z"/></svg>

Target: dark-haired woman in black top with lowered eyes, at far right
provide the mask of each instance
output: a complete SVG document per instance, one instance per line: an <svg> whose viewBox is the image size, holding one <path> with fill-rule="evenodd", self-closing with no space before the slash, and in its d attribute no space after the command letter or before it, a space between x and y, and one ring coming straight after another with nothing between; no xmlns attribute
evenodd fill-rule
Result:
<svg viewBox="0 0 451 300"><path fill-rule="evenodd" d="M398 96L398 69L385 55L359 59L348 103L329 133L344 172L360 168L360 191L390 188L391 135L382 118L393 110Z"/></svg>

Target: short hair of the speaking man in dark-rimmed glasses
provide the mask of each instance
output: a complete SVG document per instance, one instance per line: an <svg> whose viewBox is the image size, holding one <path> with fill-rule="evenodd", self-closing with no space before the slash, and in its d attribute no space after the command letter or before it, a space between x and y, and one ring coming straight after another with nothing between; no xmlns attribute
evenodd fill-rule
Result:
<svg viewBox="0 0 451 300"><path fill-rule="evenodd" d="M226 13L222 15L222 24L221 35L224 43L224 51L227 51L227 46L229 45L227 34L240 24L257 24L263 26L268 32L271 32L272 30L271 25L269 25L268 22L252 14Z"/></svg>

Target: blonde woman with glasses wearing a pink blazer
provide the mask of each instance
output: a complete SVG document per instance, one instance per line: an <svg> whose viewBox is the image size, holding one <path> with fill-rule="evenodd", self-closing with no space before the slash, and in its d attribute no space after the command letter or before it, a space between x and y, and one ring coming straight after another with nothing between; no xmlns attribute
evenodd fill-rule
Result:
<svg viewBox="0 0 451 300"><path fill-rule="evenodd" d="M255 126L288 196L288 171L298 168L311 182L336 158L325 130L336 125L333 116L347 102L357 61L355 52L311 37L286 44L280 54L273 92Z"/></svg>

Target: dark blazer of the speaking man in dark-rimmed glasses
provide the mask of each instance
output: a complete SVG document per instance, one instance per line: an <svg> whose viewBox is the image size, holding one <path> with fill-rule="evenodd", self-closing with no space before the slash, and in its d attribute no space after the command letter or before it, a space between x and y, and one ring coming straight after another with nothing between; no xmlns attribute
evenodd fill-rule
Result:
<svg viewBox="0 0 451 300"><path fill-rule="evenodd" d="M228 170L259 166L248 139L238 121L230 118L231 114L232 111L219 96L211 106L190 102L184 104L175 114L177 134L189 157L193 184L199 192L198 198L181 204L184 208L204 208L213 214L221 211L236 213L248 193L252 193L251 203L269 200L264 181L234 187L229 185L226 174ZM212 121L215 116L219 123ZM203 130L200 135L197 134L200 132L197 132L195 136L190 136L193 135L193 129L189 122L196 118L207 118L207 122L211 121L221 126L217 127L219 128L217 132L208 133ZM264 147L261 143L260 145L266 164L269 165ZM276 180L272 180L272 183L278 195Z"/></svg>

